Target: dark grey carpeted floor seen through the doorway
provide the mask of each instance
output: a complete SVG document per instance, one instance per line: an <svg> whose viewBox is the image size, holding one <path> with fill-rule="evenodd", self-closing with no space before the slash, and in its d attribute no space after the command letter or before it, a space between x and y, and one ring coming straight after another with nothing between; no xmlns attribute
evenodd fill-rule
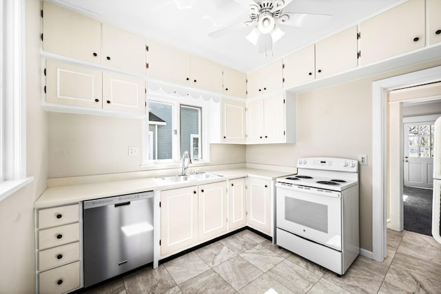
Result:
<svg viewBox="0 0 441 294"><path fill-rule="evenodd" d="M432 189L403 187L404 230L432 235Z"/></svg>

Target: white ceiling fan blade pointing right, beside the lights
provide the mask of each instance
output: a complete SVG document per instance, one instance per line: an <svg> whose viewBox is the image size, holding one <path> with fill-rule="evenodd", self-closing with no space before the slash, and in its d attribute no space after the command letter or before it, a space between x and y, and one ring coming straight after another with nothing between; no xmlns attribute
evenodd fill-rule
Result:
<svg viewBox="0 0 441 294"><path fill-rule="evenodd" d="M281 25L298 28L320 28L331 19L331 14L286 12L276 19Z"/></svg>

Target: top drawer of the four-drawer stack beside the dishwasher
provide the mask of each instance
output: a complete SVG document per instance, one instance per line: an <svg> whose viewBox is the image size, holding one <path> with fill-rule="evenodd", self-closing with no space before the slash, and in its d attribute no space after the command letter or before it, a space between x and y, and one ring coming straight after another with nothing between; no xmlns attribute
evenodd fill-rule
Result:
<svg viewBox="0 0 441 294"><path fill-rule="evenodd" d="M79 221L79 204L39 209L39 229Z"/></svg>

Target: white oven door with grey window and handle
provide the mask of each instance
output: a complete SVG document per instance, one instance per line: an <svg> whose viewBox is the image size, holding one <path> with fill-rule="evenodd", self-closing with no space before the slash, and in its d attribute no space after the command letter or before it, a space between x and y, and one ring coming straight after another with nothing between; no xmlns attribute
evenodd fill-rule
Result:
<svg viewBox="0 0 441 294"><path fill-rule="evenodd" d="M276 205L278 228L342 250L340 192L278 182Z"/></svg>

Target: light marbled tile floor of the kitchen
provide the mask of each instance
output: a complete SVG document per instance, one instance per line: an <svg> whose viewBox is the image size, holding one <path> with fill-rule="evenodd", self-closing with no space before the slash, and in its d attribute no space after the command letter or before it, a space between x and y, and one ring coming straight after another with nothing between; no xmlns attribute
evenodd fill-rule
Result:
<svg viewBox="0 0 441 294"><path fill-rule="evenodd" d="M358 256L342 277L240 231L179 258L87 293L441 293L441 244L387 231L387 259Z"/></svg>

